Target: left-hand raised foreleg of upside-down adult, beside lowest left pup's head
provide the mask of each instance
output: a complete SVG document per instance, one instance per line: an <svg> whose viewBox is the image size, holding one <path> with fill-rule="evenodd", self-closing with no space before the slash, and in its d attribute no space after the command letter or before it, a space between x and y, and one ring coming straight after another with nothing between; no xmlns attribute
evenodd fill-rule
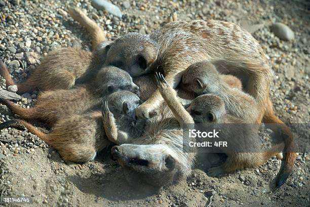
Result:
<svg viewBox="0 0 310 207"><path fill-rule="evenodd" d="M101 109L103 127L108 140L117 145L129 142L128 133L118 129L113 114L110 112L106 101L102 104Z"/></svg>

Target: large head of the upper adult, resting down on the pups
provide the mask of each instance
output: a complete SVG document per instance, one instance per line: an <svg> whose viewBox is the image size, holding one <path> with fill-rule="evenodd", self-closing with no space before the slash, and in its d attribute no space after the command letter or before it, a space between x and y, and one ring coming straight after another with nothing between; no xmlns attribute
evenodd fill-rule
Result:
<svg viewBox="0 0 310 207"><path fill-rule="evenodd" d="M104 64L119 67L132 77L148 73L157 55L154 41L136 32L127 33L105 47L107 55Z"/></svg>

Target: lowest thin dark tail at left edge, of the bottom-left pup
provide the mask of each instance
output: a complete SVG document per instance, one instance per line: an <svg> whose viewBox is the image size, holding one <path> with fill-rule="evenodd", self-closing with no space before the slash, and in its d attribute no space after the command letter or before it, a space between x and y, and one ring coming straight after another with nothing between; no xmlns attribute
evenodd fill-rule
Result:
<svg viewBox="0 0 310 207"><path fill-rule="evenodd" d="M46 134L39 129L35 128L32 124L21 120L21 119L11 119L9 121L3 122L0 124L0 130L8 127L17 127L17 128L27 128L29 132L39 137L41 140L50 145L49 134Z"/></svg>

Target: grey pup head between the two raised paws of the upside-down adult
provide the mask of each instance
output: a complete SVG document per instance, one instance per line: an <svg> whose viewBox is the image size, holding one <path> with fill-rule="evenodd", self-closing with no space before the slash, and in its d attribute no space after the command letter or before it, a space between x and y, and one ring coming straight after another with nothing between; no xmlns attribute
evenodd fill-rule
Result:
<svg viewBox="0 0 310 207"><path fill-rule="evenodd" d="M130 91L117 91L107 97L108 107L113 114L124 114L136 119L135 110L141 104L140 98Z"/></svg>

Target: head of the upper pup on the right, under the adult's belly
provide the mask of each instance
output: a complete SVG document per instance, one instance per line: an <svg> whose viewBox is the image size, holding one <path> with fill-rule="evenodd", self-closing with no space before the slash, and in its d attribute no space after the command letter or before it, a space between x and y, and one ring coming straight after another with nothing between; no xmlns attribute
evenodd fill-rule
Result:
<svg viewBox="0 0 310 207"><path fill-rule="evenodd" d="M182 75L184 88L197 95L218 91L219 82L219 73L209 61L191 64Z"/></svg>

